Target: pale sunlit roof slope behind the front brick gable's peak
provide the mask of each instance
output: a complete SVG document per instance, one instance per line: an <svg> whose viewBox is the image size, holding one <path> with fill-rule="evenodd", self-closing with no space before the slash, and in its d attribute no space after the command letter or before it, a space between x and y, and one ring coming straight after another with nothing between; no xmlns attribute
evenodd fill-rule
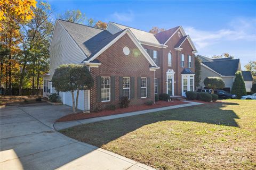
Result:
<svg viewBox="0 0 256 170"><path fill-rule="evenodd" d="M132 27L127 27L125 25L122 24L118 24L115 22L110 22L113 25L115 25L117 28L124 30L126 28L129 28L131 30L131 32L133 33L133 35L141 42L145 42L145 43L151 43L151 44L156 44L156 45L161 45L158 40L156 39L156 37L154 36L153 33L150 32L146 32L146 31L142 31L139 29L135 29Z"/></svg>

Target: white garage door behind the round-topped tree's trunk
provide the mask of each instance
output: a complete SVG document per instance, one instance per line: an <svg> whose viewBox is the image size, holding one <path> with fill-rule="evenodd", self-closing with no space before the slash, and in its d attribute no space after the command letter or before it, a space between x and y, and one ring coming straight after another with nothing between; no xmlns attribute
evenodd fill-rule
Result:
<svg viewBox="0 0 256 170"><path fill-rule="evenodd" d="M74 91L74 96L75 96L75 101L76 101L76 91ZM68 106L72 106L72 95L71 92L63 92L63 104L68 105ZM78 95L78 109L84 111L84 90L80 90L79 91L79 95Z"/></svg>

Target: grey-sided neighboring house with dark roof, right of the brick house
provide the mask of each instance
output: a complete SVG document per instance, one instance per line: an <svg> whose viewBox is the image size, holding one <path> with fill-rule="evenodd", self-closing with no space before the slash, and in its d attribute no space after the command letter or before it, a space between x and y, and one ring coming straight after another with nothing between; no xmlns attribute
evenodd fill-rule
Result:
<svg viewBox="0 0 256 170"><path fill-rule="evenodd" d="M202 55L197 55L197 57L202 60L201 88L204 88L204 79L206 77L221 77L225 82L223 90L230 92L235 80L235 73L242 71L239 59L232 59L231 57L214 59Z"/></svg>

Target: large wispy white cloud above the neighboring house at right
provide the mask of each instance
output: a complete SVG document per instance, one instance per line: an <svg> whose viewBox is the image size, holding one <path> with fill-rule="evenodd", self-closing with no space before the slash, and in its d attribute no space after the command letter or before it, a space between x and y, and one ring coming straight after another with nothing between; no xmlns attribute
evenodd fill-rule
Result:
<svg viewBox="0 0 256 170"><path fill-rule="evenodd" d="M186 33L193 39L198 50L213 44L227 43L227 41L254 41L256 40L256 19L239 18L231 21L229 29L205 31L194 27L185 27Z"/></svg>

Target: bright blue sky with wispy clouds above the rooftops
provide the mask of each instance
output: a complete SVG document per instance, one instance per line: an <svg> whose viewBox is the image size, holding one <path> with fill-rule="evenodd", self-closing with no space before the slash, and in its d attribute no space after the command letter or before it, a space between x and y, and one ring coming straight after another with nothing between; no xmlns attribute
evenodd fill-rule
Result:
<svg viewBox="0 0 256 170"><path fill-rule="evenodd" d="M117 22L149 31L182 25L198 54L229 53L242 69L256 61L255 1L47 1L55 14L79 9L95 21Z"/></svg>

